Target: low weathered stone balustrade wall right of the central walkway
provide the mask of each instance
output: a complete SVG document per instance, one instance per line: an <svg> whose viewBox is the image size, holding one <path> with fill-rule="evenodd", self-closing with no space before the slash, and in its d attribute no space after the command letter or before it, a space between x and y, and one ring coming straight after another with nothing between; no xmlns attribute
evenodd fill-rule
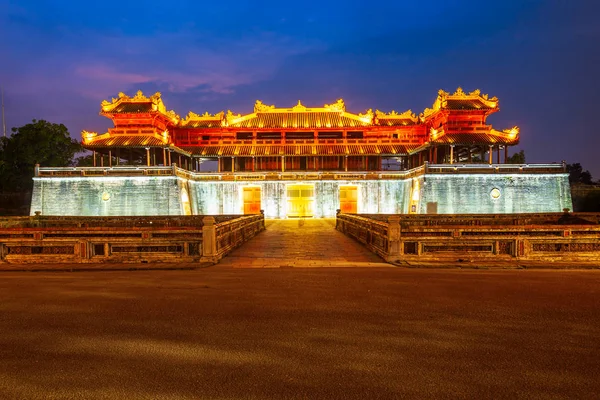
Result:
<svg viewBox="0 0 600 400"><path fill-rule="evenodd" d="M600 266L600 214L338 214L336 229L388 262L567 262Z"/></svg>

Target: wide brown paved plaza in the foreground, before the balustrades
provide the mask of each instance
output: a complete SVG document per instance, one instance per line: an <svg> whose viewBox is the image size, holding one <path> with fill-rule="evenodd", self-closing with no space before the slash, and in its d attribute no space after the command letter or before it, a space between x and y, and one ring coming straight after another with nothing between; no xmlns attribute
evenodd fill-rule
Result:
<svg viewBox="0 0 600 400"><path fill-rule="evenodd" d="M599 295L599 271L3 272L0 398L594 398Z"/></svg>

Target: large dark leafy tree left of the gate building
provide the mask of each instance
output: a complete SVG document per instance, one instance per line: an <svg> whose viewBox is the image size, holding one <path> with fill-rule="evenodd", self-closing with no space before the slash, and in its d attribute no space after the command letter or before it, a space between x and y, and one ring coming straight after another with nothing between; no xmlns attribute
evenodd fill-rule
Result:
<svg viewBox="0 0 600 400"><path fill-rule="evenodd" d="M69 136L63 124L33 120L12 128L12 136L0 142L0 190L31 190L36 164L41 167L66 167L72 164L81 144Z"/></svg>

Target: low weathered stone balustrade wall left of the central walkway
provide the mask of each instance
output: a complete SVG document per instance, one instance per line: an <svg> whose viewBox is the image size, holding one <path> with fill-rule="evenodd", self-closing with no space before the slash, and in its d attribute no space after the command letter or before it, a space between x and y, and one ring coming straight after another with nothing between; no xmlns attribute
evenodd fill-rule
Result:
<svg viewBox="0 0 600 400"><path fill-rule="evenodd" d="M217 262L262 230L262 214L1 218L0 269L6 264Z"/></svg>

